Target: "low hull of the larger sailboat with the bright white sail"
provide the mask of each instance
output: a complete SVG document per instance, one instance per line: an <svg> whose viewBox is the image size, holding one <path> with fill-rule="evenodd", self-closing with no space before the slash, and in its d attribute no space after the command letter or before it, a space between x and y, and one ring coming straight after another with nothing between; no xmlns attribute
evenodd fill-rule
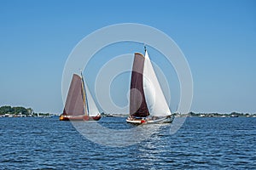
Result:
<svg viewBox="0 0 256 170"><path fill-rule="evenodd" d="M147 116L147 117L127 117L126 122L133 124L146 123L172 123L174 116Z"/></svg>

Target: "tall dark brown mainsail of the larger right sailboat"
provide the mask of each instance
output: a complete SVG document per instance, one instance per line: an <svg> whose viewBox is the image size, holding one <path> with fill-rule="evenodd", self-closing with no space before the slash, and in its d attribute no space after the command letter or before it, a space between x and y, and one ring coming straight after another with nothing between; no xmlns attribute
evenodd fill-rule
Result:
<svg viewBox="0 0 256 170"><path fill-rule="evenodd" d="M136 53L134 55L132 72L131 72L131 88L130 88L130 115L137 117L146 117L149 115L148 106L146 104L145 94L143 90L143 54Z"/></svg>

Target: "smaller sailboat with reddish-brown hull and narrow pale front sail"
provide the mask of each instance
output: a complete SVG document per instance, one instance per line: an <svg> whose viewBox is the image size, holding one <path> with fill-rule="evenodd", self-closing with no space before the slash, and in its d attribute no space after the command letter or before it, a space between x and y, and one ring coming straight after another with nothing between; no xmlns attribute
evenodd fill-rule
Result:
<svg viewBox="0 0 256 170"><path fill-rule="evenodd" d="M101 117L82 73L81 76L73 74L60 121L98 121Z"/></svg>

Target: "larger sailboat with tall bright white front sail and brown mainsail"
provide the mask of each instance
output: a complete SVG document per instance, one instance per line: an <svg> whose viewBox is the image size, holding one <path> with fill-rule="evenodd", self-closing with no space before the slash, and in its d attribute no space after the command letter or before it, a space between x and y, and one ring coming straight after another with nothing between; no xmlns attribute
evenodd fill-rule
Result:
<svg viewBox="0 0 256 170"><path fill-rule="evenodd" d="M172 122L174 116L166 103L160 83L145 48L145 56L136 53L131 72L130 123Z"/></svg>

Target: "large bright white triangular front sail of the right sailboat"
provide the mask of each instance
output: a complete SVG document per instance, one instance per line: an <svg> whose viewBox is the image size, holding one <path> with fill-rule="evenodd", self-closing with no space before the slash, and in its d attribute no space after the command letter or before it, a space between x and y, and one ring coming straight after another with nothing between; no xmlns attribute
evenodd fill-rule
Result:
<svg viewBox="0 0 256 170"><path fill-rule="evenodd" d="M150 115L167 116L172 114L160 88L160 83L154 73L154 68L150 62L147 51L145 52L143 70L143 90Z"/></svg>

